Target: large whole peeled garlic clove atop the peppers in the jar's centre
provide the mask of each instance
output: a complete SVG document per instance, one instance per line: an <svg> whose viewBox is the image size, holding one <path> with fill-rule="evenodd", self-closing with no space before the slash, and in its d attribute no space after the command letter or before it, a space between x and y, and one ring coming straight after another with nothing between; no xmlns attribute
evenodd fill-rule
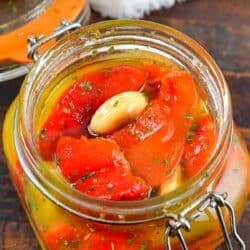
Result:
<svg viewBox="0 0 250 250"><path fill-rule="evenodd" d="M96 110L89 129L97 135L108 134L135 119L147 104L148 98L141 92L128 91L117 94Z"/></svg>

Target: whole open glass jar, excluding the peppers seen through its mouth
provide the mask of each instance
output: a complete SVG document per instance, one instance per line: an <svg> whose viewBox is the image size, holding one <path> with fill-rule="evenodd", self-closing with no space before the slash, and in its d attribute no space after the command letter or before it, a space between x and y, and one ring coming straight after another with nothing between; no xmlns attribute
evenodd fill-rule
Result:
<svg viewBox="0 0 250 250"><path fill-rule="evenodd" d="M37 117L44 106L50 109L46 100L63 88L60 82L70 72L116 58L143 60L144 55L173 60L207 94L218 133L213 153L198 175L163 196L119 202L79 193L55 168L45 167L37 149ZM190 249L214 249L223 241L217 213L230 227L232 211L223 193L237 221L249 194L249 155L233 125L220 69L196 42L151 22L97 23L58 41L27 75L7 113L3 143L13 184L43 249L163 250L170 242L178 249L183 238Z"/></svg>

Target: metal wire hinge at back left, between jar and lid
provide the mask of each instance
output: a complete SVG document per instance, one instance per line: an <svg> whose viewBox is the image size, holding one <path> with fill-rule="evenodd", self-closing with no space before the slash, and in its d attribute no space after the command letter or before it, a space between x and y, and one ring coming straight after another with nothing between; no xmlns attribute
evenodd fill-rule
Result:
<svg viewBox="0 0 250 250"><path fill-rule="evenodd" d="M61 21L61 25L55 29L55 31L48 35L39 35L37 37L29 36L28 37L28 58L36 61L39 58L38 48L47 43L48 41L54 38L60 38L65 33L80 28L81 24L78 22L69 23L66 20Z"/></svg>

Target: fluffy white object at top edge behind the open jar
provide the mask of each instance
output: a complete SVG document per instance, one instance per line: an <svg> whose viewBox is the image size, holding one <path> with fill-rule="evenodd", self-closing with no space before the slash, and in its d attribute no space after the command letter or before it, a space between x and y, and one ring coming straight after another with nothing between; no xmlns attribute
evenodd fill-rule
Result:
<svg viewBox="0 0 250 250"><path fill-rule="evenodd" d="M185 0L90 0L92 8L103 17L142 18L152 10L170 8Z"/></svg>

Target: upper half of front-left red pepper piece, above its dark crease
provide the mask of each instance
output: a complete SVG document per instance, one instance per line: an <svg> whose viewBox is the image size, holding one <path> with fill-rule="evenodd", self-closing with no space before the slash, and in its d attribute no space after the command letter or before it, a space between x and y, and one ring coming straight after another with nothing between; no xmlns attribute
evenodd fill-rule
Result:
<svg viewBox="0 0 250 250"><path fill-rule="evenodd" d="M62 136L57 144L56 159L63 176L71 183L116 166L129 168L118 145L104 138Z"/></svg>

